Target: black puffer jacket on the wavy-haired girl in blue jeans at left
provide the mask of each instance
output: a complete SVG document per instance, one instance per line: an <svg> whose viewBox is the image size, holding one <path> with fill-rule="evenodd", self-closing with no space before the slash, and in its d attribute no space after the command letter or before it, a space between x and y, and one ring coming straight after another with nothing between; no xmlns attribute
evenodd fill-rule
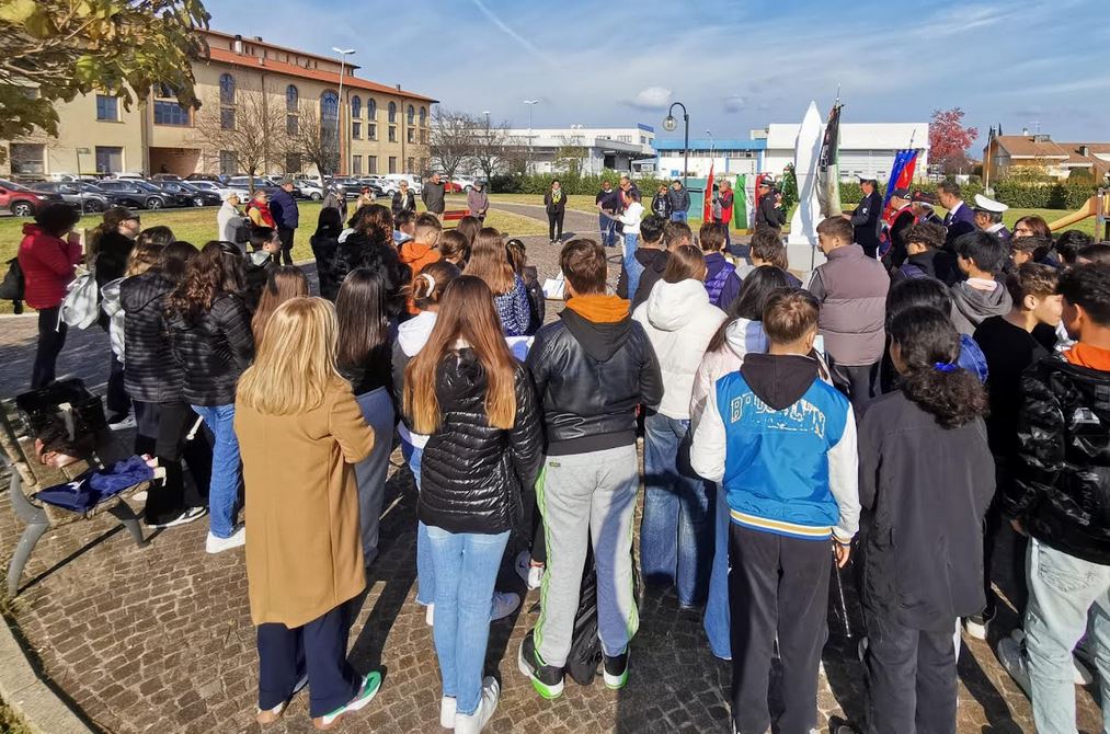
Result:
<svg viewBox="0 0 1110 734"><path fill-rule="evenodd" d="M173 358L184 370L182 393L190 405L231 405L235 383L254 359L251 314L238 295L220 293L198 322L168 312Z"/></svg>

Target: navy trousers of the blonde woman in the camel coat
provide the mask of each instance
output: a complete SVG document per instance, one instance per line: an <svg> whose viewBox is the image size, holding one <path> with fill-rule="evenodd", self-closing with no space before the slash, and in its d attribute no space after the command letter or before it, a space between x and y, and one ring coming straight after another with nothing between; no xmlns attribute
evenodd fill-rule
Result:
<svg viewBox="0 0 1110 734"><path fill-rule="evenodd" d="M309 714L330 714L346 704L362 683L346 660L351 632L351 603L345 602L304 626L260 624L259 708L284 703L305 674L309 676Z"/></svg>

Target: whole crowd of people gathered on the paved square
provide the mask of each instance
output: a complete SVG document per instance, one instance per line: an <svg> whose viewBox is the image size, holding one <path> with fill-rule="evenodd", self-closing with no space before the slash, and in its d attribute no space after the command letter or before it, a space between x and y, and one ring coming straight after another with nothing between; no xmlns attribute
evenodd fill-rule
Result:
<svg viewBox="0 0 1110 734"><path fill-rule="evenodd" d="M562 695L581 662L584 574L593 664L609 688L627 684L642 579L703 610L745 734L816 726L830 580L850 564L869 695L846 731L955 732L960 626L986 637L1009 529L1025 624L998 653L1038 731L1074 731L1084 634L1110 695L1110 245L1052 239L1038 218L1003 238L997 202L969 222L950 183L944 220L908 191L884 218L865 185L868 211L818 225L826 262L803 284L771 183L738 259L730 191L695 235L680 182L647 211L624 179L597 197L601 241L562 244L549 320L524 243L484 227L488 199L445 230L442 195L424 192L430 212L407 191L345 222L324 207L320 296L287 260L295 217L264 198L199 249L112 209L82 252L62 205L20 244L39 311L32 386L54 379L83 259L118 303L103 322L109 412L133 413L135 453L167 467L145 522L208 515L209 553L245 545L260 723L305 686L320 728L379 692L346 647L395 434L418 492L416 602L445 728L481 731L497 706L490 625L521 603L496 590L507 560L542 589L516 653L541 696ZM553 242L565 203L553 182Z"/></svg>

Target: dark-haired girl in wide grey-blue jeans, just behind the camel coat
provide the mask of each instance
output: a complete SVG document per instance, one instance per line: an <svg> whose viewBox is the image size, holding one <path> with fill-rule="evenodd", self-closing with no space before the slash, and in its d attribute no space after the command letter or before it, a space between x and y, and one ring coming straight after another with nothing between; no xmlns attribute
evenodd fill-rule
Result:
<svg viewBox="0 0 1110 734"><path fill-rule="evenodd" d="M376 439L374 450L354 467L362 555L369 566L377 557L379 516L396 423L390 364L395 325L387 313L381 274L365 268L351 271L340 289L335 313L340 328L340 374L351 383L362 416Z"/></svg>

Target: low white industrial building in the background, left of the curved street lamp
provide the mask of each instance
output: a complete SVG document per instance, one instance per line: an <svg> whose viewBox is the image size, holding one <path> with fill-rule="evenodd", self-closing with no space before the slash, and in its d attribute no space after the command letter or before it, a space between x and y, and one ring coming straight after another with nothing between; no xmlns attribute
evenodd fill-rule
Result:
<svg viewBox="0 0 1110 734"><path fill-rule="evenodd" d="M583 173L638 170L637 161L655 162L654 143L655 129L643 123L633 128L516 128L506 133L506 144L526 149L537 173L561 172L558 153L571 148L583 151L578 164Z"/></svg>

